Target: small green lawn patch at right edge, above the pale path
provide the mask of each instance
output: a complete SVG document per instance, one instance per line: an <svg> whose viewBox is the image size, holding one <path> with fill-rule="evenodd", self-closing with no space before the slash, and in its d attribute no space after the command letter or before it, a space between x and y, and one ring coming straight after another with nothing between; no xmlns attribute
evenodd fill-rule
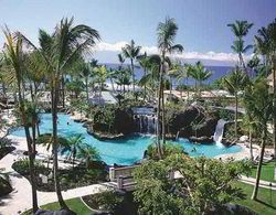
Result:
<svg viewBox="0 0 276 215"><path fill-rule="evenodd" d="M261 180L268 181L268 182L276 182L276 180L274 179L274 169L275 169L275 161L264 163L262 166ZM255 179L256 171L257 171L257 165L254 165L250 176Z"/></svg>

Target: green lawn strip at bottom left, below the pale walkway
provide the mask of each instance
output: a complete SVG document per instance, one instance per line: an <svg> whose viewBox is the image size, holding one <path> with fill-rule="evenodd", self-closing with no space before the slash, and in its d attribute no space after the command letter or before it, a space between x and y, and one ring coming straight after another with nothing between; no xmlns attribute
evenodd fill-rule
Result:
<svg viewBox="0 0 276 215"><path fill-rule="evenodd" d="M86 207L86 205L82 202L82 200L79 197L66 200L65 203L77 215L92 215L93 214L93 212L88 207ZM43 206L41 206L41 208L42 209L59 211L60 205L57 202L55 202L55 203L50 203L50 204L43 205ZM22 215L30 215L30 214L32 214L31 211L28 211L28 212L24 212Z"/></svg>

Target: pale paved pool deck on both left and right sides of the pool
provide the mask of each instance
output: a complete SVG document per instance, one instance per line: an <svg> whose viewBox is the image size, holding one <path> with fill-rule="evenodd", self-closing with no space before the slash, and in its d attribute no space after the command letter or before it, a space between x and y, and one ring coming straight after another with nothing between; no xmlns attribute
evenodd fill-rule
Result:
<svg viewBox="0 0 276 215"><path fill-rule="evenodd" d="M82 118L79 115L75 115L74 118ZM1 133L2 135L2 133ZM15 172L11 166L12 163L19 159L22 159L22 152L26 151L26 142L24 137L17 137L17 136L8 136L9 139L13 140L13 146L15 150L4 158L0 160L0 168L4 169L4 172L10 174L11 184L13 186L13 192L10 194L0 197L0 215L6 214L18 214L18 212L23 212L32 207L31 204L31 184L29 181ZM215 159L227 160L242 160L245 158L250 158L250 149L245 146L245 143L238 143L242 147L242 150L236 153L229 153L229 154L221 154L215 157ZM46 151L45 147L38 146L38 159L45 159L51 154L50 151ZM267 149L266 153L270 153L272 149ZM254 146L253 150L254 157L258 155L259 147ZM66 164L63 162L59 163L60 168L64 168ZM244 179L245 180L245 179ZM242 180L242 181L244 181ZM247 180L247 182L246 182ZM253 183L254 179L246 179L245 183ZM99 193L104 190L109 189L114 184L110 183L102 183L102 184L93 184L84 187L77 187L73 190L67 190L63 193L64 200L79 197L88 194ZM261 186L267 187L267 184L261 184ZM38 192L38 201L39 205L44 205L47 203L56 202L56 194L55 192Z"/></svg>

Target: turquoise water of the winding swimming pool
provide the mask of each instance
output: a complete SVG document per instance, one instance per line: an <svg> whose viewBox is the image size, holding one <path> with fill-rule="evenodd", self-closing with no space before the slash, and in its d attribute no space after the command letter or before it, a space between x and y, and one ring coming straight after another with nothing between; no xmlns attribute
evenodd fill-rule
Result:
<svg viewBox="0 0 276 215"><path fill-rule="evenodd" d="M42 114L41 119L41 133L52 132L51 114ZM67 122L70 125L67 125ZM102 160L110 165L114 163L132 164L134 162L139 161L144 155L144 151L152 141L152 137L150 136L132 136L123 140L100 141L88 135L86 132L86 128L83 127L83 123L73 121L70 116L65 114L59 114L57 127L59 135L63 137L71 137L82 133L88 144L97 148ZM24 130L22 128L18 128L12 132L12 135L24 137ZM241 151L241 147L238 146L226 148L215 143L192 144L185 139L180 139L176 143L180 143L191 157L205 155L213 158L224 153L234 153ZM195 152L192 152L193 148L197 149Z"/></svg>

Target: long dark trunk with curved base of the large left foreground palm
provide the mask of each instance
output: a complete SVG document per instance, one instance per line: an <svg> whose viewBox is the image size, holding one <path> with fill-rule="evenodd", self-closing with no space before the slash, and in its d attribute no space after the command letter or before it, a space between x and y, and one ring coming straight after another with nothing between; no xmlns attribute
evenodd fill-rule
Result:
<svg viewBox="0 0 276 215"><path fill-rule="evenodd" d="M59 178L59 161L57 161L57 104L59 104L59 84L56 83L52 88L52 117L53 117L53 168L54 168L54 185L55 192L57 195L57 200L60 206L64 209L68 209L67 205L65 204L60 185L60 178Z"/></svg>

